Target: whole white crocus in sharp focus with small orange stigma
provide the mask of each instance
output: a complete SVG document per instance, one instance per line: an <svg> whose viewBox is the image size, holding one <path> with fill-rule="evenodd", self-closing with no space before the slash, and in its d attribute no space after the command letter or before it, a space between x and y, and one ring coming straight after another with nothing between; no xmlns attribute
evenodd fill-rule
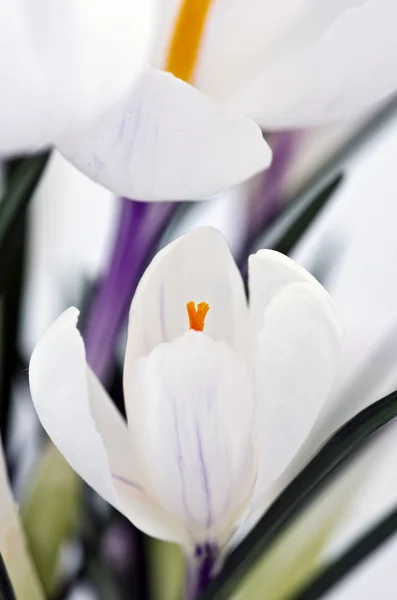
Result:
<svg viewBox="0 0 397 600"><path fill-rule="evenodd" d="M131 305L128 426L86 363L77 309L30 363L39 418L70 465L145 533L181 544L196 585L307 438L339 355L330 299L310 274L260 251L249 279L248 308L213 228L159 252Z"/></svg>

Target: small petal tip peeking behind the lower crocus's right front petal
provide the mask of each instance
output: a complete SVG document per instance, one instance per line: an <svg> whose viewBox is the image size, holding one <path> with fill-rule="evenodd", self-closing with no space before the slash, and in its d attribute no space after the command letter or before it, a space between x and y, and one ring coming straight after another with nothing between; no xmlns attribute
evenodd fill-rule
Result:
<svg viewBox="0 0 397 600"><path fill-rule="evenodd" d="M322 286L291 258L274 250L259 250L248 260L249 306L255 331L263 327L264 311L274 297L291 283Z"/></svg>

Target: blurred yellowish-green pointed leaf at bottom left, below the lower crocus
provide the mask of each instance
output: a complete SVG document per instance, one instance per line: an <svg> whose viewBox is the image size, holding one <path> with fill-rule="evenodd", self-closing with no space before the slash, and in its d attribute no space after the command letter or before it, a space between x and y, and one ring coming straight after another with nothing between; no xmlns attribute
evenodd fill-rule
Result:
<svg viewBox="0 0 397 600"><path fill-rule="evenodd" d="M28 546L42 585L52 595L57 584L59 551L74 533L80 509L80 481L48 442L22 506Z"/></svg>

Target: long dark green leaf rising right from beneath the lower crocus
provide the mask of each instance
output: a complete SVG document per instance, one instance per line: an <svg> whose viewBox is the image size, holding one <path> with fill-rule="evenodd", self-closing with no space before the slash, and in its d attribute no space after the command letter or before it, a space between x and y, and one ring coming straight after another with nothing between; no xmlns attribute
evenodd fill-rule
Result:
<svg viewBox="0 0 397 600"><path fill-rule="evenodd" d="M242 578L278 536L323 490L375 433L397 416L397 392L378 400L341 427L274 501L257 525L229 555L200 600L230 598Z"/></svg>

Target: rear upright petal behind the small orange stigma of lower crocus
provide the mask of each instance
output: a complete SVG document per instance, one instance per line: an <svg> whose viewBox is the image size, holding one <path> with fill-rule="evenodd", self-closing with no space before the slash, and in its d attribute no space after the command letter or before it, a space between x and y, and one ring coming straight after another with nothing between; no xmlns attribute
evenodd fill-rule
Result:
<svg viewBox="0 0 397 600"><path fill-rule="evenodd" d="M209 304L207 335L236 350L246 348L249 324L241 275L225 238L213 227L177 238L146 269L131 304L126 372L137 357L188 331L190 301Z"/></svg>

